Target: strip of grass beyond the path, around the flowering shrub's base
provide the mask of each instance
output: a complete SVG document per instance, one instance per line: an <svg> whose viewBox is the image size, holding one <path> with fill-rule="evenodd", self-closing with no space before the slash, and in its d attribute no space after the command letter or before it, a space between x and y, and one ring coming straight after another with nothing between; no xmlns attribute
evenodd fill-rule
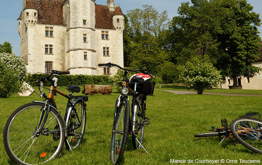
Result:
<svg viewBox="0 0 262 165"><path fill-rule="evenodd" d="M161 88L160 88L161 87ZM181 90L181 91L193 91L187 90L185 86L176 86L176 85L167 85L164 84L156 84L155 89L164 89L164 90ZM215 89L212 90L204 90L204 93L228 93L228 94L247 94L247 95L262 95L262 90L255 89Z"/></svg>

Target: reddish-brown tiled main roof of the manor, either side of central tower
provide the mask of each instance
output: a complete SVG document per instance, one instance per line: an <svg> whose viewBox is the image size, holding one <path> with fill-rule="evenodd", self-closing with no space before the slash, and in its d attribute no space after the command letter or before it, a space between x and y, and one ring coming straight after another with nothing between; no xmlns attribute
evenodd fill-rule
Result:
<svg viewBox="0 0 262 165"><path fill-rule="evenodd" d="M28 0L27 8L38 10L38 24L64 25L63 3L67 0ZM95 28L115 29L112 21L113 15L123 15L120 6L117 6L114 12L110 12L107 5L95 5L96 24ZM22 19L22 12L19 16Z"/></svg>

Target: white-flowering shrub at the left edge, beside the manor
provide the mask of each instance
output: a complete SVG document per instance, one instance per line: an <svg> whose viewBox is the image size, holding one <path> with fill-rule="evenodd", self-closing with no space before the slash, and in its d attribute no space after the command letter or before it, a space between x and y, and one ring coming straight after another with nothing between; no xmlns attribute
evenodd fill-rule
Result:
<svg viewBox="0 0 262 165"><path fill-rule="evenodd" d="M24 60L12 53L0 53L0 98L7 98L22 90L26 75Z"/></svg>

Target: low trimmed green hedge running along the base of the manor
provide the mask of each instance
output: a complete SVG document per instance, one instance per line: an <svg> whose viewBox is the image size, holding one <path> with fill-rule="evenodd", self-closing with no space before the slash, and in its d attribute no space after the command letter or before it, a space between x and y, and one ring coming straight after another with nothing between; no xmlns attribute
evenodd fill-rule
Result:
<svg viewBox="0 0 262 165"><path fill-rule="evenodd" d="M35 87L35 81L39 77L45 77L45 74L31 74L25 77L25 81ZM53 77L51 77L52 79ZM113 85L113 78L110 76L95 76L95 75L60 75L57 77L57 86L83 85L83 84L98 84L98 85ZM50 82L46 82L44 86L50 86Z"/></svg>

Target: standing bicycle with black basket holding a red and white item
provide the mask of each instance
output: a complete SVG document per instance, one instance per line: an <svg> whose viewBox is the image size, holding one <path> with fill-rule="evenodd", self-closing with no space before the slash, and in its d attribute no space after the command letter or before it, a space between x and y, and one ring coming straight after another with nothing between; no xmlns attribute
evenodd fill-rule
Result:
<svg viewBox="0 0 262 165"><path fill-rule="evenodd" d="M116 100L114 110L114 122L112 129L111 151L110 158L113 164L119 164L122 160L125 144L128 135L132 135L133 149L143 147L145 125L150 123L150 119L146 117L146 96L153 95L155 82L151 82L151 76L154 77L147 70L142 69L128 69L122 68L119 65L98 64L99 67L117 67L119 70L124 70L123 86L120 96ZM128 80L128 72L138 72ZM131 118L129 97L133 96L131 104ZM146 151L146 150L145 150ZM146 151L146 153L148 153Z"/></svg>

